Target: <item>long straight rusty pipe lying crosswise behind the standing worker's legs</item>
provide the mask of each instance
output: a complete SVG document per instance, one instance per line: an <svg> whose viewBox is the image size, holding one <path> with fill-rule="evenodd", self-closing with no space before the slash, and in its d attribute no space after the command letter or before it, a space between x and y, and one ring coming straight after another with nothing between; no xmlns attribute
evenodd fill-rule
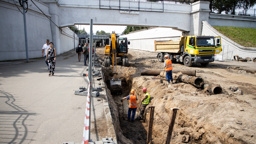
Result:
<svg viewBox="0 0 256 144"><path fill-rule="evenodd" d="M143 70L142 72L140 72L140 74L144 76L158 76L158 75L162 76L163 72L164 71L162 70ZM179 72L189 76L196 76L196 70L172 70L172 73L175 73L175 74ZM165 74L163 77L165 77Z"/></svg>

